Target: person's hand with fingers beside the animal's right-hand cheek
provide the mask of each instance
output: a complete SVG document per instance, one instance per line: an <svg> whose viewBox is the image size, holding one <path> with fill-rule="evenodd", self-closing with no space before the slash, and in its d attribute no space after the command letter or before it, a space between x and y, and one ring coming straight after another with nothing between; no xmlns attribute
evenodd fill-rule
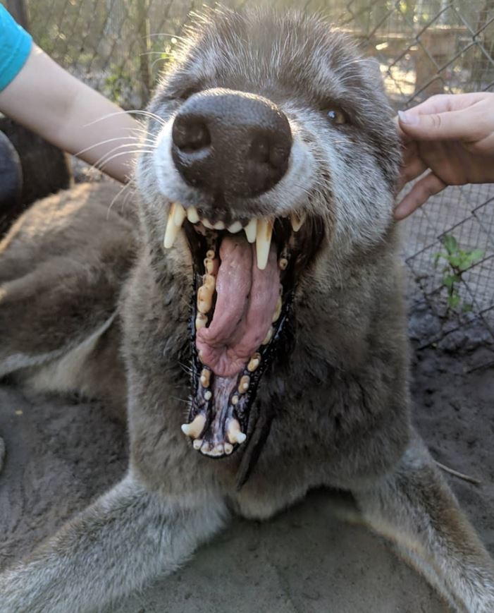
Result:
<svg viewBox="0 0 494 613"><path fill-rule="evenodd" d="M399 111L405 145L398 189L425 171L395 209L405 219L449 185L494 182L494 93L433 96Z"/></svg>

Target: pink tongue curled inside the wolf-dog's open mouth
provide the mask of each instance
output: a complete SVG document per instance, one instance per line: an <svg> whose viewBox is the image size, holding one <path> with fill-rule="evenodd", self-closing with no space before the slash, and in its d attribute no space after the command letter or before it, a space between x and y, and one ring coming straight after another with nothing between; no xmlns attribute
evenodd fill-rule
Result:
<svg viewBox="0 0 494 613"><path fill-rule="evenodd" d="M196 347L216 375L233 377L266 338L280 295L280 271L274 245L266 268L259 270L255 245L242 236L223 238L220 258L213 320L197 331Z"/></svg>

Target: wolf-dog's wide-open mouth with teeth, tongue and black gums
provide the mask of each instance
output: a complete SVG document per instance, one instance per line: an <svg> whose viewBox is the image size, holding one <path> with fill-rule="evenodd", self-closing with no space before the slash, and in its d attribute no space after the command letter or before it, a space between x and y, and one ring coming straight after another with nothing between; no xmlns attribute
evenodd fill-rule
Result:
<svg viewBox="0 0 494 613"><path fill-rule="evenodd" d="M290 318L297 280L323 236L317 217L202 217L174 203L164 238L185 232L192 253L192 403L182 425L194 449L229 456L244 443L261 377Z"/></svg>

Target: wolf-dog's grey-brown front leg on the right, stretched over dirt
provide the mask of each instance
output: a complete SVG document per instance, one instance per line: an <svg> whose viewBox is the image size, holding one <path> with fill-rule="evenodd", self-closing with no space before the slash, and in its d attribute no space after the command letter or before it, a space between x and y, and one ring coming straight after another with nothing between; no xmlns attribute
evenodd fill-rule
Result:
<svg viewBox="0 0 494 613"><path fill-rule="evenodd" d="M494 564L417 436L393 473L352 490L364 520L455 611L494 611Z"/></svg>

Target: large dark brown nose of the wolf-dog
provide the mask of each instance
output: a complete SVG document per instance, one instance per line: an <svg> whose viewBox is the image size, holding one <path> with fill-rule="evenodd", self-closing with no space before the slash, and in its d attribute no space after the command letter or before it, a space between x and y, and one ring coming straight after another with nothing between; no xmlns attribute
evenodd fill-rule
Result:
<svg viewBox="0 0 494 613"><path fill-rule="evenodd" d="M250 197L271 189L288 169L290 123L266 98L207 90L175 116L172 156L190 185L215 195Z"/></svg>

